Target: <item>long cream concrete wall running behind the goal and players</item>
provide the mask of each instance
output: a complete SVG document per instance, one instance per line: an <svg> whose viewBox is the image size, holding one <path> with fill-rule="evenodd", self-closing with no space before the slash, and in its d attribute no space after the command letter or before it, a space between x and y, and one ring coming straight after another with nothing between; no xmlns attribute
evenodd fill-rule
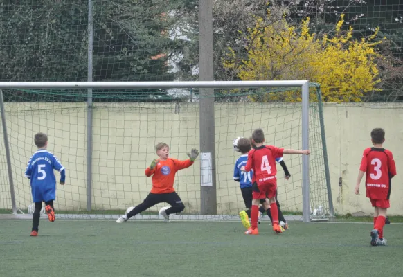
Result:
<svg viewBox="0 0 403 277"><path fill-rule="evenodd" d="M373 127L386 129L386 148L393 151L399 172L402 132L400 105L325 105L325 132L328 141L332 195L337 213L371 213L363 194L353 193L364 148L370 146ZM6 103L12 170L17 204L31 202L30 187L24 179L26 162L35 152L33 135L46 132L48 150L67 169L66 186L58 186L57 208L86 208L87 110L82 103ZM312 206L325 204L327 194L316 109L311 111L310 175ZM186 159L186 151L199 147L197 104L100 104L93 112L93 208L124 209L141 202L151 188L144 169L156 157L154 145L170 145L171 157ZM238 153L232 150L236 136L249 136L256 127L265 129L267 141L285 148L301 148L301 109L298 104L217 104L215 108L218 213L238 213L244 206L238 184L232 180ZM1 134L3 136L3 134ZM3 141L1 141L3 143ZM4 150L0 150L0 208L10 206ZM285 157L292 179L285 181L279 169L279 198L283 209L301 211L301 157ZM199 161L178 172L175 188L186 211L199 211ZM339 177L342 185L339 186ZM58 178L58 177L57 177ZM391 213L402 214L400 175L393 179ZM156 207L154 210L158 209Z"/></svg>

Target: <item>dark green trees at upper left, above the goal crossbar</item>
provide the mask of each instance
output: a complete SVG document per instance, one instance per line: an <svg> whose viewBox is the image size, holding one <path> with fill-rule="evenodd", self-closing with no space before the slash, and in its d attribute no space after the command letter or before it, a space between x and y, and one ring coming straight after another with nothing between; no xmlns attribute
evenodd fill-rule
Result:
<svg viewBox="0 0 403 277"><path fill-rule="evenodd" d="M181 5L182 0L95 1L93 80L173 80L167 60L180 46L167 31L178 18L168 12ZM86 1L8 0L0 16L0 80L87 80ZM137 99L170 99L165 90L133 92ZM96 101L95 90L93 96ZM98 99L107 100L103 96Z"/></svg>

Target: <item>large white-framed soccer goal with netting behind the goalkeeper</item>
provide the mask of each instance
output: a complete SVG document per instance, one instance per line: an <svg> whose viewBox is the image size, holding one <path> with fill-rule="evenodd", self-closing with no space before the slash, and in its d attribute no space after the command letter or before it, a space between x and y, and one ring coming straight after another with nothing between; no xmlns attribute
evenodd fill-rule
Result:
<svg viewBox="0 0 403 277"><path fill-rule="evenodd" d="M334 215L319 87L307 81L238 82L0 82L1 217L30 218L24 170L33 136L48 134L48 150L66 168L55 210L62 218L116 219L151 188L144 170L154 146L195 164L177 173L174 188L186 208L173 220L236 220L244 209L233 181L233 139L265 132L268 144L310 149L278 166L278 200L294 220ZM58 173L57 173L58 174ZM56 176L59 179L58 176ZM155 206L136 218L158 219Z"/></svg>

